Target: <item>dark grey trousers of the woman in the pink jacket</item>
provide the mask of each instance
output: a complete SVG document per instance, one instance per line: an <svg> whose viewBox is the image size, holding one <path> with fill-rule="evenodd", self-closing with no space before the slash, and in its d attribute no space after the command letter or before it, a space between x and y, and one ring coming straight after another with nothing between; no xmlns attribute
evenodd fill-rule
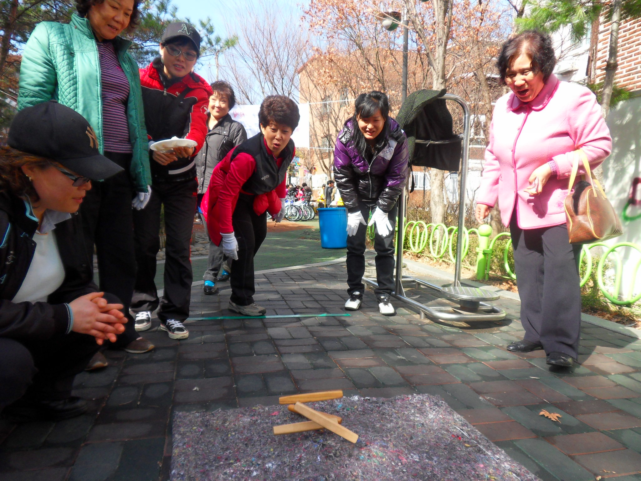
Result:
<svg viewBox="0 0 641 481"><path fill-rule="evenodd" d="M514 267L526 341L540 342L546 353L578 357L581 329L581 246L570 244L565 224L519 228L510 221Z"/></svg>

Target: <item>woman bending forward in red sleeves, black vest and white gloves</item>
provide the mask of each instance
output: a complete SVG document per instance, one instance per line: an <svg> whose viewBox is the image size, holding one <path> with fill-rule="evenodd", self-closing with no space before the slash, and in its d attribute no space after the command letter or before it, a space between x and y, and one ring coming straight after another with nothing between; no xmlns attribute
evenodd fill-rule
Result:
<svg viewBox="0 0 641 481"><path fill-rule="evenodd" d="M260 133L216 165L207 190L210 238L233 259L229 310L244 316L267 312L254 303L254 255L267 235L267 210L276 222L285 214L285 176L296 151L290 137L300 118L292 99L266 97L258 112Z"/></svg>

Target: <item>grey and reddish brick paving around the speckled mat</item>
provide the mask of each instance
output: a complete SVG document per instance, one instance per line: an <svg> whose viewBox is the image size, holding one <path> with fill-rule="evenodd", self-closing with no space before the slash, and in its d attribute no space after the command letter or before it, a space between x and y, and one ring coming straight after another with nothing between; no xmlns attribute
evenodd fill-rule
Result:
<svg viewBox="0 0 641 481"><path fill-rule="evenodd" d="M259 274L256 301L271 315L341 313L345 277L344 263ZM219 296L196 286L192 316L228 316L228 299L228 285ZM196 321L186 341L153 329L145 334L153 352L108 351L109 367L78 376L75 394L92 400L87 415L0 421L0 478L166 480L172 412L343 389L347 396L442 396L544 481L641 480L641 341L584 324L582 365L551 372L542 351L505 350L523 334L519 305L497 304L509 313L503 323L454 327L404 308L379 316L368 291L350 317ZM561 414L560 422L540 416L542 409Z"/></svg>

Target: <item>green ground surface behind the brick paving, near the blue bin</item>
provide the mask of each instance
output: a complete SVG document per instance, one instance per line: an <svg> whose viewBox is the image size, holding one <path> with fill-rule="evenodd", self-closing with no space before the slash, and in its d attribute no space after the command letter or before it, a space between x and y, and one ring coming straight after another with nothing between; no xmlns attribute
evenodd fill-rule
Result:
<svg viewBox="0 0 641 481"><path fill-rule="evenodd" d="M284 221L288 223L287 221ZM318 218L313 221L297 223L304 225L302 230L289 230L281 232L267 232L267 238L260 246L254 258L254 269L278 269L280 267L301 266L343 257L345 249L323 249L320 247L320 231ZM273 223L268 223L272 226ZM207 259L192 259L194 281L199 281L207 269ZM162 289L165 263L157 264L156 287Z"/></svg>

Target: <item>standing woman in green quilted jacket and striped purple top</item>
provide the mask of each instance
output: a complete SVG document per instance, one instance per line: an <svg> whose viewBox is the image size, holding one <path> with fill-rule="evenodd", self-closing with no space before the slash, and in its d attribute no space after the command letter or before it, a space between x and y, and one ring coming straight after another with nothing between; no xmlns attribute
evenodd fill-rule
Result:
<svg viewBox="0 0 641 481"><path fill-rule="evenodd" d="M87 251L96 245L100 289L118 296L125 312L136 269L131 208L146 205L151 183L138 65L127 53L130 42L119 37L135 28L139 4L76 0L78 14L69 24L38 24L22 54L18 96L19 109L54 99L76 110L93 129L87 131L90 142L124 168L95 182L79 212ZM115 347L142 353L154 346L138 337L130 319Z"/></svg>

